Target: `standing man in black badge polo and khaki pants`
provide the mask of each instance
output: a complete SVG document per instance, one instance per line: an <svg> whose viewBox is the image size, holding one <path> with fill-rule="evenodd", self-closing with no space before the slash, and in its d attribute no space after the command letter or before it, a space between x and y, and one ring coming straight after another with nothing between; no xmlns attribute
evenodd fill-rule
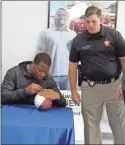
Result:
<svg viewBox="0 0 125 145"><path fill-rule="evenodd" d="M88 7L85 11L86 31L73 39L69 57L72 99L79 104L76 82L80 61L85 144L102 143L100 121L104 104L115 144L125 144L124 101L116 95L117 82L125 65L125 40L117 30L101 25L100 19L101 10Z"/></svg>

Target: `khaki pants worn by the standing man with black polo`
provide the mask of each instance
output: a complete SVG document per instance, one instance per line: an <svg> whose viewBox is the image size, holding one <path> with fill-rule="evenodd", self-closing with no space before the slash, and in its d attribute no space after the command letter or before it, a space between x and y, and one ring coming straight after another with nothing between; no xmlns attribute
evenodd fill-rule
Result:
<svg viewBox="0 0 125 145"><path fill-rule="evenodd" d="M110 84L96 84L89 87L87 82L81 86L82 115L84 120L85 144L101 144L100 121L103 105L106 106L109 125L115 144L125 144L125 106L117 93L118 81Z"/></svg>

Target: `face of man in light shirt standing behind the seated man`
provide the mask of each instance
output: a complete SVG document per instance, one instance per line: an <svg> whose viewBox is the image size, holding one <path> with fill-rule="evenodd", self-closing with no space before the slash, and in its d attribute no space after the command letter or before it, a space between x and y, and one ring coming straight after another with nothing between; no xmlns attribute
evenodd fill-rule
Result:
<svg viewBox="0 0 125 145"><path fill-rule="evenodd" d="M64 10L58 10L55 15L55 23L59 26L65 25L67 21L67 13Z"/></svg>

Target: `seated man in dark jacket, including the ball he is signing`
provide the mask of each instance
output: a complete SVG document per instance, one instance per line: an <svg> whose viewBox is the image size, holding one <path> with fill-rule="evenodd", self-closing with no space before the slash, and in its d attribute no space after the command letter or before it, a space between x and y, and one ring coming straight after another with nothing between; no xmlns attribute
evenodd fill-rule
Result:
<svg viewBox="0 0 125 145"><path fill-rule="evenodd" d="M22 62L9 69L1 85L1 103L31 105L37 103L35 106L41 109L49 109L52 106L65 107L65 98L54 79L48 74L50 66L50 56L39 53L33 62ZM43 96L42 99L39 99L40 96ZM44 105L40 106L39 101L43 102L45 99Z"/></svg>

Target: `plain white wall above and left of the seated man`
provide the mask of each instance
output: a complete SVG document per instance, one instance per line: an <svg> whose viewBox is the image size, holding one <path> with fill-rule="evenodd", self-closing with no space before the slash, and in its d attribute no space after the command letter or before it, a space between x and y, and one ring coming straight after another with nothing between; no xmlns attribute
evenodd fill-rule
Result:
<svg viewBox="0 0 125 145"><path fill-rule="evenodd" d="M10 67L33 59L47 21L47 1L2 1L2 78Z"/></svg>

